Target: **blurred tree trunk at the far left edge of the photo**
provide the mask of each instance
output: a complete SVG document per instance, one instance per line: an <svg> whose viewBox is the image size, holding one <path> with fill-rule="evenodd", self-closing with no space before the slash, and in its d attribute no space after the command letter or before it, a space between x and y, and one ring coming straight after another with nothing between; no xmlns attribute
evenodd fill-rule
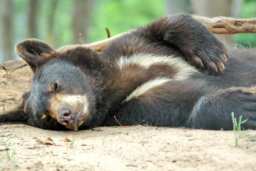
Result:
<svg viewBox="0 0 256 171"><path fill-rule="evenodd" d="M2 26L3 26L3 52L4 61L14 59L13 50L13 1L1 0L1 14L2 14Z"/></svg>

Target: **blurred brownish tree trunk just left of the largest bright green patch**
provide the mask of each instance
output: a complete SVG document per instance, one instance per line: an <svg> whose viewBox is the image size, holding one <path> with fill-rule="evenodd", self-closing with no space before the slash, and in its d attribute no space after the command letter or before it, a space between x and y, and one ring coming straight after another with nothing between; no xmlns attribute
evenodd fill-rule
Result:
<svg viewBox="0 0 256 171"><path fill-rule="evenodd" d="M94 0L75 0L73 13L73 44L89 42L87 30L90 25Z"/></svg>

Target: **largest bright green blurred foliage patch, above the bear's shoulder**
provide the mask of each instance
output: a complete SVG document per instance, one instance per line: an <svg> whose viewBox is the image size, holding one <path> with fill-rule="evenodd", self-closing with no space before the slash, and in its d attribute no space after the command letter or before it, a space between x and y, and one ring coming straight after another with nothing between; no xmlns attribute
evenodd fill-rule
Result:
<svg viewBox="0 0 256 171"><path fill-rule="evenodd" d="M165 15L163 0L98 0L89 31L92 42L127 32Z"/></svg>

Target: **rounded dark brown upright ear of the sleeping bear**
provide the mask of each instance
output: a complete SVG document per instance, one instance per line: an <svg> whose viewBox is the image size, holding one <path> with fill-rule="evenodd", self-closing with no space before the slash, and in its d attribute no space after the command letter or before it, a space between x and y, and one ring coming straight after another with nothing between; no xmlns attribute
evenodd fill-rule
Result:
<svg viewBox="0 0 256 171"><path fill-rule="evenodd" d="M54 51L55 49L51 45L37 39L27 39L15 46L15 52L28 63L33 72L36 72L37 67L46 60L45 58L49 57L44 54Z"/></svg>

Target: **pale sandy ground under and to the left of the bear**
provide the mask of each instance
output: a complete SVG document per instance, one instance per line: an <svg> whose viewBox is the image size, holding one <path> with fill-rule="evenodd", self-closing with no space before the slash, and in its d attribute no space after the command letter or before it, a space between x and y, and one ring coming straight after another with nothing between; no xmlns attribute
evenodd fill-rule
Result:
<svg viewBox="0 0 256 171"><path fill-rule="evenodd" d="M28 91L33 73L24 64L0 67L0 110L16 106ZM234 137L234 131L150 126L49 131L1 125L0 170L256 171L256 131L242 132L237 146Z"/></svg>

